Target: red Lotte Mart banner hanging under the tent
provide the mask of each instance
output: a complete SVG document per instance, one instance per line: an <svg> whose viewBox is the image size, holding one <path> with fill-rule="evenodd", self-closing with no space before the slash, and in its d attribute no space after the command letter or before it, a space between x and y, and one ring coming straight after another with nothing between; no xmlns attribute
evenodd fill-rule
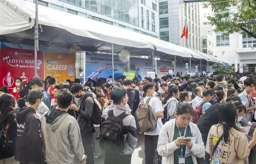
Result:
<svg viewBox="0 0 256 164"><path fill-rule="evenodd" d="M44 80L44 56L37 52L38 76ZM35 54L32 50L0 48L0 87L6 86L9 92L15 87L15 79L22 78L22 83L29 82L35 76Z"/></svg>

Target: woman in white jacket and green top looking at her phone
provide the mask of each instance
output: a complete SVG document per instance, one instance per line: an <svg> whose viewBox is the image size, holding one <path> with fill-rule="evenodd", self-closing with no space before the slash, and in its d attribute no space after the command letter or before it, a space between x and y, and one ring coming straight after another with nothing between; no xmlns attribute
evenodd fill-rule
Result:
<svg viewBox="0 0 256 164"><path fill-rule="evenodd" d="M202 135L196 124L192 123L193 115L192 106L182 103L175 112L176 119L166 122L162 127L157 145L162 164L197 164L196 157L204 157ZM184 139L188 137L190 139Z"/></svg>

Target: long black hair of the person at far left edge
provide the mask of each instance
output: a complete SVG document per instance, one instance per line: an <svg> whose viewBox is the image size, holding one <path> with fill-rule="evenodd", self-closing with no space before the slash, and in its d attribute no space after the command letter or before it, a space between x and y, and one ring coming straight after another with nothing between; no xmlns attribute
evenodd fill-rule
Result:
<svg viewBox="0 0 256 164"><path fill-rule="evenodd" d="M16 100L12 94L3 94L0 96L0 129L4 126L12 124L15 120L14 108Z"/></svg>

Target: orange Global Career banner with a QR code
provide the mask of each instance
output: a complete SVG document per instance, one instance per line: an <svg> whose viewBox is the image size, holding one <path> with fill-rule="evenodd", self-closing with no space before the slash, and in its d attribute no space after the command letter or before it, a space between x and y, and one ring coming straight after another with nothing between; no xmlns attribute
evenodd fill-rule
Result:
<svg viewBox="0 0 256 164"><path fill-rule="evenodd" d="M76 54L58 52L44 53L44 77L52 76L60 82L67 79L74 81Z"/></svg>

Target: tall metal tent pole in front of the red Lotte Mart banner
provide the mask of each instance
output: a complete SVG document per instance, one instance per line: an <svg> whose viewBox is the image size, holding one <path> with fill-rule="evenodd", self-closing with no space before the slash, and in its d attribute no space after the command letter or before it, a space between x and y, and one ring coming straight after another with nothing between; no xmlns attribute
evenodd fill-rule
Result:
<svg viewBox="0 0 256 164"><path fill-rule="evenodd" d="M36 25L35 25L35 77L37 77L37 51L38 51L38 0L36 0Z"/></svg>

